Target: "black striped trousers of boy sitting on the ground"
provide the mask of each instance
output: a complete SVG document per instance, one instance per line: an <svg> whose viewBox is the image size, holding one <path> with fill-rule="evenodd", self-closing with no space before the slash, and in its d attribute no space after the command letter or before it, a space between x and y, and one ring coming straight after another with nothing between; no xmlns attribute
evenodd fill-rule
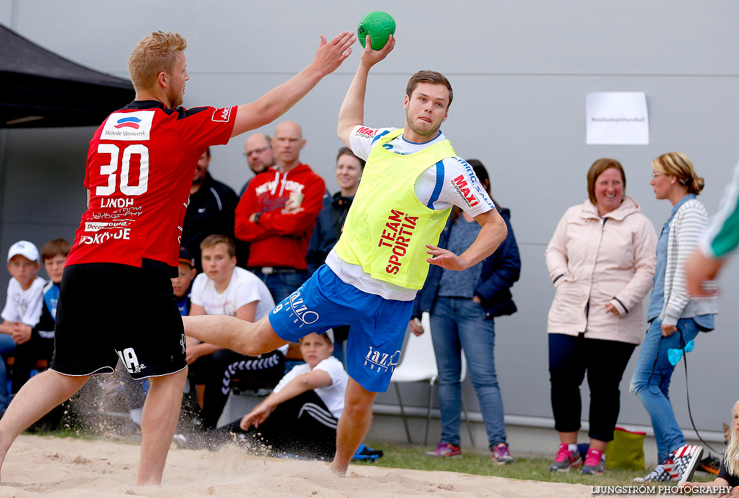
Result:
<svg viewBox="0 0 739 498"><path fill-rule="evenodd" d="M218 439L254 439L256 449L271 447L275 453L291 453L299 457L333 460L336 453L336 424L338 420L316 391L302 392L295 398L283 401L274 409L258 429L251 427L247 432L235 421L212 435ZM225 436L225 437L224 437Z"/></svg>

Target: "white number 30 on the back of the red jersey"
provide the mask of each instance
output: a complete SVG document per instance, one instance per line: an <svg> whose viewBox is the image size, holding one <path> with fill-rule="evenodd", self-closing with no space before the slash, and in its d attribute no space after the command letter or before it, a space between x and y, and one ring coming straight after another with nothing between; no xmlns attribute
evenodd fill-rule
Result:
<svg viewBox="0 0 739 498"><path fill-rule="evenodd" d="M111 196L115 193L115 183L118 179L118 156L120 149L113 144L98 144L98 153L110 154L110 162L101 165L100 174L108 176L107 185L95 187L96 196ZM140 168L138 181L131 184L129 170L131 169L131 156L140 157ZM149 188L149 149L143 144L132 144L123 149L120 157L120 192L124 196L140 196Z"/></svg>

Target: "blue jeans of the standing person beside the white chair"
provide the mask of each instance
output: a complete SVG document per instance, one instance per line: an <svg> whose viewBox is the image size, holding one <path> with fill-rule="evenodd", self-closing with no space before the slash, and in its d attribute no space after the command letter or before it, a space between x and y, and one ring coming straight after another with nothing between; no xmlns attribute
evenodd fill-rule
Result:
<svg viewBox="0 0 739 498"><path fill-rule="evenodd" d="M490 449L505 443L503 400L495 374L495 328L483 306L463 297L438 297L431 313L431 331L439 370L441 442L459 446L464 350L469 376L480 400Z"/></svg>

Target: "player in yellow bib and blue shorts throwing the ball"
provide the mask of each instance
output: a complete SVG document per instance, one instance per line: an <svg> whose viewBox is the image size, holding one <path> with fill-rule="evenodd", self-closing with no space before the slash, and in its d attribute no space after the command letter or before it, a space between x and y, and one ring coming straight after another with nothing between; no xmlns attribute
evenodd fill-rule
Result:
<svg viewBox="0 0 739 498"><path fill-rule="evenodd" d="M429 264L468 269L491 255L507 232L472 168L440 131L452 103L446 77L433 71L411 77L404 128L362 124L369 69L393 46L392 37L379 51L367 44L338 114L339 138L367 165L326 264L256 324L185 317L188 335L252 356L311 332L350 325L350 379L331 464L339 475L367 434L376 393L387 389L398 364L413 299ZM436 246L452 205L481 226L461 255Z"/></svg>

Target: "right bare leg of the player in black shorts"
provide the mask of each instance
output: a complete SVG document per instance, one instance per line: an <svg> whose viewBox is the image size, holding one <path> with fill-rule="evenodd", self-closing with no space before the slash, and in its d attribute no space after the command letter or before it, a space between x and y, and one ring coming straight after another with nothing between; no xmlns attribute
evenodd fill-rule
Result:
<svg viewBox="0 0 739 498"><path fill-rule="evenodd" d="M168 376L149 378L151 387L141 415L141 458L137 480L140 486L162 483L186 378L187 368Z"/></svg>

